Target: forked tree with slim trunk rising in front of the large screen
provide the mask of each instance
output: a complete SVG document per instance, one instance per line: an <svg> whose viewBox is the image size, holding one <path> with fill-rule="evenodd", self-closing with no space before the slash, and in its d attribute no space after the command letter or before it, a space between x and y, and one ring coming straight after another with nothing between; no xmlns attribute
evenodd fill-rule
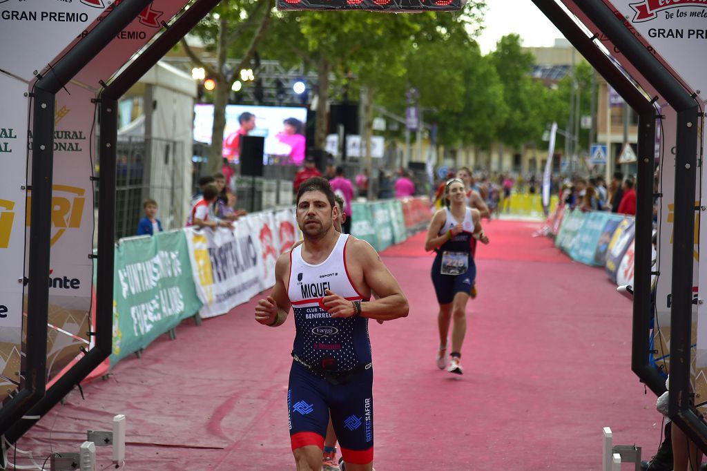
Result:
<svg viewBox="0 0 707 471"><path fill-rule="evenodd" d="M204 42L205 51L215 54L216 64L206 61L205 57L194 52L182 39L182 47L194 65L203 67L206 74L216 82L209 173L221 168L226 104L231 86L238 80L240 70L250 64L268 28L273 6L272 0L222 0L194 28L192 33ZM226 62L229 57L240 58L240 62L228 68Z"/></svg>

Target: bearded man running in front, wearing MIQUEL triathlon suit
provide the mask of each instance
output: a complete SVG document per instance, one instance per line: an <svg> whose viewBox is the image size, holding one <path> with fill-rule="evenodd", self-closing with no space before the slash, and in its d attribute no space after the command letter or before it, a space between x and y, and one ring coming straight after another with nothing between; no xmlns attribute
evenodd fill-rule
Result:
<svg viewBox="0 0 707 471"><path fill-rule="evenodd" d="M255 319L282 325L294 306L296 336L288 388L298 471L319 471L329 413L346 471L373 466L373 369L368 319L405 317L409 306L378 253L334 230L339 209L329 182L312 178L296 201L304 243L281 255L271 295ZM371 291L379 299L368 301Z"/></svg>

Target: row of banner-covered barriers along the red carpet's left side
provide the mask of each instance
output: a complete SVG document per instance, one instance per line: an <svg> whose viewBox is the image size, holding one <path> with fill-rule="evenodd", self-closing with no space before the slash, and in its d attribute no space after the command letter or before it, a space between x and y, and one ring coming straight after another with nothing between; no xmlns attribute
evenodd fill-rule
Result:
<svg viewBox="0 0 707 471"><path fill-rule="evenodd" d="M351 233L380 251L401 243L431 219L427 199L352 204ZM141 356L187 318L223 315L275 282L275 262L299 238L293 208L249 214L228 228L182 228L119 240L115 251L110 361L105 376L131 354ZM198 322L197 322L198 323Z"/></svg>

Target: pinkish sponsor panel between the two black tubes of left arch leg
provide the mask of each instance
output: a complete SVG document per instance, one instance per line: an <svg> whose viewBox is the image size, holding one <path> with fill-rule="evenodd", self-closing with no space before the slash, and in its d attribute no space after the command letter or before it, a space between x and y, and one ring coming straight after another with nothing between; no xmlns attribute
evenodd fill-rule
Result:
<svg viewBox="0 0 707 471"><path fill-rule="evenodd" d="M47 380L88 349L93 282L93 164L95 93L68 83L54 110L54 181L49 264ZM28 132L33 140L33 132ZM31 163L31 153L29 161ZM31 226L28 192L26 225ZM29 231L27 232L29 236Z"/></svg>

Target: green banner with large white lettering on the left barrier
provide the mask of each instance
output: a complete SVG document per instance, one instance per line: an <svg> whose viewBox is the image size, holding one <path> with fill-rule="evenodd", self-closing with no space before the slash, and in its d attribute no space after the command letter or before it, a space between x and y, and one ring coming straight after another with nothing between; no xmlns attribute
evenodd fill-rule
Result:
<svg viewBox="0 0 707 471"><path fill-rule="evenodd" d="M111 365L201 308L183 231L122 241L113 282Z"/></svg>

